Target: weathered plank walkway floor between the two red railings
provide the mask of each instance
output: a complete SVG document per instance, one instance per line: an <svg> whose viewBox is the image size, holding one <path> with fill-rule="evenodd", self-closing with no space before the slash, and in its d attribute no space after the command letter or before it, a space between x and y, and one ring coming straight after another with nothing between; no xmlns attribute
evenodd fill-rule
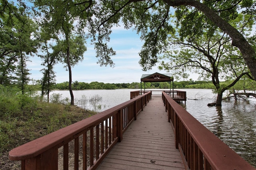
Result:
<svg viewBox="0 0 256 170"><path fill-rule="evenodd" d="M152 96L98 170L184 170L161 96Z"/></svg>

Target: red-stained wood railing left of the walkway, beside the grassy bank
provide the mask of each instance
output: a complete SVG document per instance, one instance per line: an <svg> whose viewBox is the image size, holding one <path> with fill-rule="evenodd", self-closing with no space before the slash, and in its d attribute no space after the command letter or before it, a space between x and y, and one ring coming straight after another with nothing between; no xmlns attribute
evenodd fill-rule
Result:
<svg viewBox="0 0 256 170"><path fill-rule="evenodd" d="M16 147L9 152L9 158L21 160L22 170L56 170L60 161L63 161L64 170L70 166L75 170L80 167L96 169L110 149L122 141L122 134L150 99L151 92L148 92ZM71 154L74 157L72 165L69 164Z"/></svg>

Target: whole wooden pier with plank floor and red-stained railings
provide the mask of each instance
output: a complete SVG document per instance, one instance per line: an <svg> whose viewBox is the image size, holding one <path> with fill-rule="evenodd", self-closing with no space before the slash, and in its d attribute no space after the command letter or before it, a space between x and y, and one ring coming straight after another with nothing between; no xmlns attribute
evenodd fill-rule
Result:
<svg viewBox="0 0 256 170"><path fill-rule="evenodd" d="M151 91L16 147L9 158L21 160L23 170L256 170L166 92Z"/></svg>

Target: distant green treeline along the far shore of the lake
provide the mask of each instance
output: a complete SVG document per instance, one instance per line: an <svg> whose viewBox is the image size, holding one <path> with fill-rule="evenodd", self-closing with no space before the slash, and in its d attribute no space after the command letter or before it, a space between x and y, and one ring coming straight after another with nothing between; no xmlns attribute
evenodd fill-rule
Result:
<svg viewBox="0 0 256 170"><path fill-rule="evenodd" d="M174 88L208 88L213 89L214 86L211 81L180 81L173 82ZM140 82L132 83L103 83L103 82L78 82L72 83L73 90L86 90L86 89L140 89ZM142 82L142 88L144 88L144 82ZM169 89L170 82L147 82L145 83L146 89ZM171 82L172 88L172 82ZM62 82L54 85L54 89L68 90L68 82Z"/></svg>

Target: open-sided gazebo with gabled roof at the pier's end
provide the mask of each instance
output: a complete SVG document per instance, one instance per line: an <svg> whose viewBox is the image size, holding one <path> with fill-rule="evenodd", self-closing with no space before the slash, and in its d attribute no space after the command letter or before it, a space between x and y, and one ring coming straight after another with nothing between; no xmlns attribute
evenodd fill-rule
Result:
<svg viewBox="0 0 256 170"><path fill-rule="evenodd" d="M170 82L170 90L171 90L171 82L172 82L172 90L173 90L173 76L172 74L160 74L158 72L154 74L142 74L140 78L140 90L142 90L142 82ZM145 84L144 84L145 90Z"/></svg>

